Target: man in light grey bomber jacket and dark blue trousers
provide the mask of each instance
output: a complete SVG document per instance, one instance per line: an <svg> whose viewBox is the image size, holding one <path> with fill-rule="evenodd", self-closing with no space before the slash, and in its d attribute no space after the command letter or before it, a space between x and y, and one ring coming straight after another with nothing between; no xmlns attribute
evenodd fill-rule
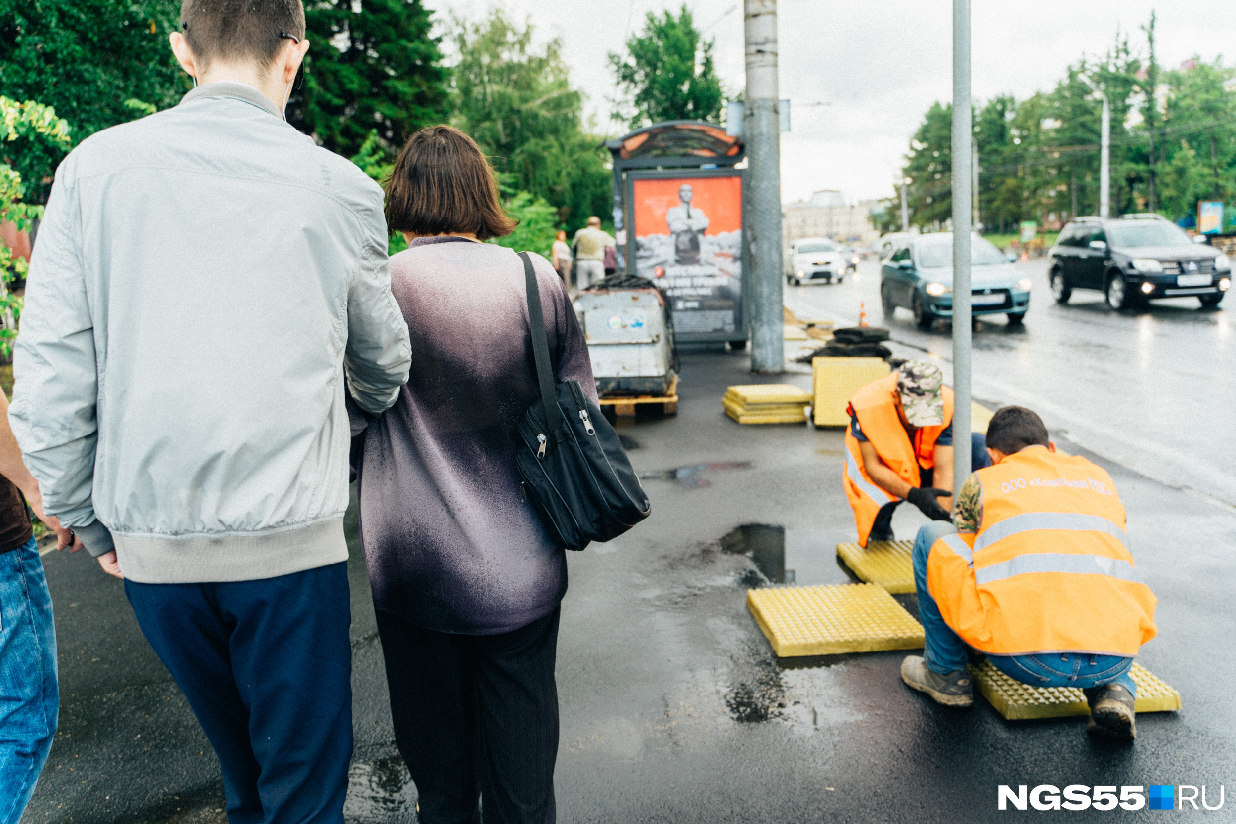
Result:
<svg viewBox="0 0 1236 824"><path fill-rule="evenodd" d="M300 0L185 0L197 89L61 164L10 419L44 508L125 592L236 822L342 822L345 393L405 382L382 190L283 120Z"/></svg>

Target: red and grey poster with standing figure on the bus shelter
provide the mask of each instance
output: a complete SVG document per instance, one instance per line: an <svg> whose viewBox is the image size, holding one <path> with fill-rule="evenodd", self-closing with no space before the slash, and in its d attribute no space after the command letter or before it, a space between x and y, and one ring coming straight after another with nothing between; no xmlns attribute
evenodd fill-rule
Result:
<svg viewBox="0 0 1236 824"><path fill-rule="evenodd" d="M676 335L740 340L743 178L637 178L632 182L635 274L670 298Z"/></svg>

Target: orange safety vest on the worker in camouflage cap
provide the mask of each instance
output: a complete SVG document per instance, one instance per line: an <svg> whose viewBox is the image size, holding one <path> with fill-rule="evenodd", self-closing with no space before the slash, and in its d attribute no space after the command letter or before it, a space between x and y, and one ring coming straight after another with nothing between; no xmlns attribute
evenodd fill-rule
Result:
<svg viewBox="0 0 1236 824"><path fill-rule="evenodd" d="M906 427L897 416L897 373L892 372L858 390L850 398L845 410L858 418L868 441L894 472L906 479L912 487L921 483L918 468L931 469L936 466L936 439L953 420L953 390L942 387L944 393L944 423L939 426L923 426L915 432L913 442ZM859 441L850 427L845 427L845 468L842 483L845 497L854 509L854 524L858 526L859 546L866 546L866 539L875 525L875 514L884 504L897 500L876 486L863 466L863 453Z"/></svg>

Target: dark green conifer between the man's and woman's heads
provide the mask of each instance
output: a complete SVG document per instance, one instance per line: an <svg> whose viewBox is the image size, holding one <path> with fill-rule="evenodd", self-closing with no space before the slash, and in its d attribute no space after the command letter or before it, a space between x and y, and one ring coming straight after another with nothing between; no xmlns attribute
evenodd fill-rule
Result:
<svg viewBox="0 0 1236 824"><path fill-rule="evenodd" d="M446 117L447 70L421 0L309 0L304 84L288 122L344 156L370 132L393 156L407 137Z"/></svg>

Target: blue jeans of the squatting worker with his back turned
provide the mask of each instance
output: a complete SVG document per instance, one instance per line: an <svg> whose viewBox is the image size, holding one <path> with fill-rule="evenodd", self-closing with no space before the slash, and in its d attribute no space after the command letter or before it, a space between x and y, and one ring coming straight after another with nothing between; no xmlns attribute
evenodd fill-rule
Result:
<svg viewBox="0 0 1236 824"><path fill-rule="evenodd" d="M936 599L927 592L927 555L932 544L942 535L955 532L957 528L948 521L932 521L918 530L915 537L915 587L918 591L918 620L922 621L927 636L923 644L923 660L927 667L937 675L948 675L964 670L965 641L944 623ZM1132 658L1119 655L1091 655L1089 652L1043 652L1039 655L989 655L988 661L1010 678L1032 687L1078 687L1088 691L1086 698L1095 687L1119 683L1133 696L1137 684L1128 675Z"/></svg>

